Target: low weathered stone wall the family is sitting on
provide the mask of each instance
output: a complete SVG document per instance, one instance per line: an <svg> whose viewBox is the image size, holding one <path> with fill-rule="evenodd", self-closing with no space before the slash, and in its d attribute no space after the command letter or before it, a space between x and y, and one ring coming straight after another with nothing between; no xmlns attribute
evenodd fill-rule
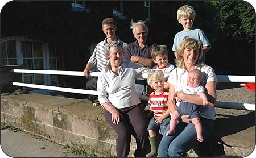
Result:
<svg viewBox="0 0 256 158"><path fill-rule="evenodd" d="M255 112L246 117L254 124L240 127L236 132L225 128L229 122L219 118L216 134L208 139L202 151L214 156L249 155L255 146ZM254 117L254 118L253 118ZM238 118L241 120L241 118ZM236 120L231 118L231 120ZM84 148L98 157L115 157L117 134L106 123L101 106L92 106L86 99L53 97L40 94L22 94L1 97L1 122L45 136L60 144ZM234 121L233 121L234 122ZM247 122L248 123L248 122ZM234 123L236 125L236 123ZM240 142L240 143L238 143ZM131 141L130 154L134 152L135 139ZM202 157L209 157L201 152ZM189 157L197 157L191 149Z"/></svg>

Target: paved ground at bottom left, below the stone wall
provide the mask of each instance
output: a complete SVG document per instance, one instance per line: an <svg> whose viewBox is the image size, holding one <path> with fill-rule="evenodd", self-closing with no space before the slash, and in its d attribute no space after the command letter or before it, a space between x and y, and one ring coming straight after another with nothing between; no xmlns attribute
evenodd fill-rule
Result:
<svg viewBox="0 0 256 158"><path fill-rule="evenodd" d="M10 157L82 157L45 138L9 129L1 130L1 148Z"/></svg>

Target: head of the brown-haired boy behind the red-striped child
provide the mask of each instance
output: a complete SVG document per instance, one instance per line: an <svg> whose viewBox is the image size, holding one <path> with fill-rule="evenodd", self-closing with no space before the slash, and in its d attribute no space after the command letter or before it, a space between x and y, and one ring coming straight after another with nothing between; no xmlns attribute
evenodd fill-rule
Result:
<svg viewBox="0 0 256 158"><path fill-rule="evenodd" d="M166 45L158 45L151 51L151 57L159 68L163 68L168 64L168 50Z"/></svg>

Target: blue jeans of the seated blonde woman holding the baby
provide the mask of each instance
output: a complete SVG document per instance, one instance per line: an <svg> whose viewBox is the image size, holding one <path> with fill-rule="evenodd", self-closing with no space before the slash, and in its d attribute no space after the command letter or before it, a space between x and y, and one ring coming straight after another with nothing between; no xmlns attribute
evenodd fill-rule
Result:
<svg viewBox="0 0 256 158"><path fill-rule="evenodd" d="M200 118L200 120L203 126L203 137L206 139L213 132L214 120L205 118ZM175 133L171 136L166 136L168 130L170 130L170 126L166 128L159 144L159 157L182 157L183 153L199 144L193 123L177 123Z"/></svg>

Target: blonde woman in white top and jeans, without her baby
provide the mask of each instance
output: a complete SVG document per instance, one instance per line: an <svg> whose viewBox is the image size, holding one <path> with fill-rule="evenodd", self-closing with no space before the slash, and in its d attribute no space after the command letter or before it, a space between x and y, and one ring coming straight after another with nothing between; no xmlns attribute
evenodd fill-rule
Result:
<svg viewBox="0 0 256 158"><path fill-rule="evenodd" d="M203 73L203 86L205 86L207 98L209 101L208 106L203 106L203 101L199 94L185 94L180 91L177 94L177 100L187 101L199 105L201 114L201 123L203 126L203 137L207 138L213 132L215 109L214 103L216 101L216 84L217 78L213 68L205 65L201 59L203 56L201 43L196 39L186 39L181 42L177 48L177 59L175 60L177 68L172 70L168 82L170 83L169 97L177 89L182 89L182 86L187 81L188 74L193 69L199 69ZM177 104L178 105L178 104ZM168 99L168 106L171 113L177 109L177 105L171 99ZM159 157L182 157L189 149L195 147L199 142L195 126L191 123L188 115L181 117L182 120L177 122L174 134L170 136L163 135L158 148ZM166 132L170 127L166 128Z"/></svg>

